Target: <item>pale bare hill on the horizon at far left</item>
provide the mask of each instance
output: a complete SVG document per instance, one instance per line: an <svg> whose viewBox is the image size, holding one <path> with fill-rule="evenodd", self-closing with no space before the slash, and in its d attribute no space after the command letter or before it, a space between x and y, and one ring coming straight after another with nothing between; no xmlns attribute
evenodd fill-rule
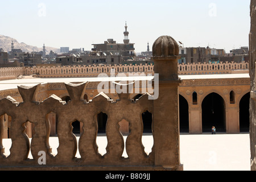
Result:
<svg viewBox="0 0 256 182"><path fill-rule="evenodd" d="M16 39L10 38L9 36L0 35L0 48L3 49L5 52L11 51L11 41L13 40L14 43L14 49L22 49L23 52L40 52L43 51L43 45L42 47L35 47L27 45L26 43L19 43ZM53 48L53 47L46 47L46 54L48 55L50 51L59 53L59 48Z"/></svg>

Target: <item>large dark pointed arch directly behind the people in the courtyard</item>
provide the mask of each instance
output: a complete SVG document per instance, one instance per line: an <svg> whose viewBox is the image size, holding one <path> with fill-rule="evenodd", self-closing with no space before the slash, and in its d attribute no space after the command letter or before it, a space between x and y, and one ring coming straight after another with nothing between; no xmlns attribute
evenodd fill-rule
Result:
<svg viewBox="0 0 256 182"><path fill-rule="evenodd" d="M211 93L202 103L202 129L210 132L212 126L217 132L226 132L225 101L217 93Z"/></svg>

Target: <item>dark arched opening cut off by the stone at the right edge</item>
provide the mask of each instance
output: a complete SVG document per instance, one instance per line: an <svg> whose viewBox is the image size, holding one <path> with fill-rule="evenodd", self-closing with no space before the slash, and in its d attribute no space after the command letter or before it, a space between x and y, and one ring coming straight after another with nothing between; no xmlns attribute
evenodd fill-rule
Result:
<svg viewBox="0 0 256 182"><path fill-rule="evenodd" d="M250 130L250 93L245 94L241 98L239 111L239 121L240 121L240 132L249 132Z"/></svg>

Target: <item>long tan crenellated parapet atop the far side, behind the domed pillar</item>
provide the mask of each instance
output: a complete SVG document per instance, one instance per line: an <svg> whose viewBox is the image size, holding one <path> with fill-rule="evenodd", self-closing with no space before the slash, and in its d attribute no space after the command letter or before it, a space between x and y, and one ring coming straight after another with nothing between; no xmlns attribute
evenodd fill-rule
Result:
<svg viewBox="0 0 256 182"><path fill-rule="evenodd" d="M118 73L145 73L154 75L153 64L139 65L75 65L75 66L41 66L24 68L24 75L36 75L37 77L97 77L101 73L108 76L114 69ZM193 63L177 64L179 75L212 75L248 73L249 63Z"/></svg>

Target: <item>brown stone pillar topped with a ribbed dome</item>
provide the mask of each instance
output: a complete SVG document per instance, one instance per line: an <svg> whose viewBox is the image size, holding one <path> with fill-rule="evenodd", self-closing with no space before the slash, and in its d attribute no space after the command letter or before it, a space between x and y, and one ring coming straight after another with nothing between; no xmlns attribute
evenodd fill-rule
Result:
<svg viewBox="0 0 256 182"><path fill-rule="evenodd" d="M155 76L159 74L159 97L154 100L155 166L183 170L179 147L179 45L170 36L160 36L152 51Z"/></svg>

